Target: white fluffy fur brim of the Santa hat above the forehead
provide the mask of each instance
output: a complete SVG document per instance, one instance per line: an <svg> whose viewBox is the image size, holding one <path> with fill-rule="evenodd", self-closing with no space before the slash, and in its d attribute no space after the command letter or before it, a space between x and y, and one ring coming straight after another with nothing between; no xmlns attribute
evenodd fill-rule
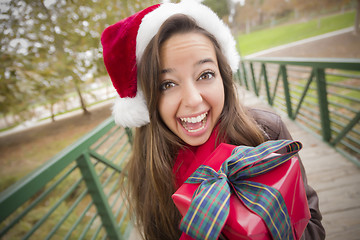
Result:
<svg viewBox="0 0 360 240"><path fill-rule="evenodd" d="M178 13L192 17L199 27L205 29L216 38L232 71L236 72L239 66L240 57L236 50L235 39L232 36L229 27L220 20L210 8L195 1L164 3L145 15L136 37L137 61L141 59L146 46L166 19Z"/></svg>

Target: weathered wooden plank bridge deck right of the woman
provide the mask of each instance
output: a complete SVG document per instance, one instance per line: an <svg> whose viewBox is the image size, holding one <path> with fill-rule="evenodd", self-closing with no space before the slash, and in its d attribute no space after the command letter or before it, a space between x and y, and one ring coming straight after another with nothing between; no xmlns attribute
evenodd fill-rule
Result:
<svg viewBox="0 0 360 240"><path fill-rule="evenodd" d="M247 106L272 110L254 94L241 91ZM282 115L291 135L303 143L300 156L309 185L318 193L326 239L360 239L360 168L321 139Z"/></svg>

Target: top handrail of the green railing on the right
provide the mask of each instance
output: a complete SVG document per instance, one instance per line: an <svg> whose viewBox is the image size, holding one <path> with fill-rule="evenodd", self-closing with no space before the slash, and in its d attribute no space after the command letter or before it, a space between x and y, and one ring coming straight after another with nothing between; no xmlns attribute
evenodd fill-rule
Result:
<svg viewBox="0 0 360 240"><path fill-rule="evenodd" d="M252 57L242 58L244 62L275 63L317 68L336 68L342 70L359 70L358 58L302 58L302 57Z"/></svg>

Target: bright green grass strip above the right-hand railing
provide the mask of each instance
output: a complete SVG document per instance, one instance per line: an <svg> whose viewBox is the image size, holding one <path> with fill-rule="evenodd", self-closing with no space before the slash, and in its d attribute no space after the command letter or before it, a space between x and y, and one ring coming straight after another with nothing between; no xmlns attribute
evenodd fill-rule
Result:
<svg viewBox="0 0 360 240"><path fill-rule="evenodd" d="M326 16L308 22L282 25L264 29L237 37L238 49L242 56L246 56L268 48L295 42L305 38L350 27L355 21L355 12Z"/></svg>

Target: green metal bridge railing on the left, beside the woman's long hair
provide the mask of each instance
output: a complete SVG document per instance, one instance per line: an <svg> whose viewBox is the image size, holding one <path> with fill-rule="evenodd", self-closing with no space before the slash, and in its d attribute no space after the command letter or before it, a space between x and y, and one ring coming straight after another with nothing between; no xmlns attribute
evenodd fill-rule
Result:
<svg viewBox="0 0 360 240"><path fill-rule="evenodd" d="M130 133L109 118L0 193L0 239L127 239Z"/></svg>

